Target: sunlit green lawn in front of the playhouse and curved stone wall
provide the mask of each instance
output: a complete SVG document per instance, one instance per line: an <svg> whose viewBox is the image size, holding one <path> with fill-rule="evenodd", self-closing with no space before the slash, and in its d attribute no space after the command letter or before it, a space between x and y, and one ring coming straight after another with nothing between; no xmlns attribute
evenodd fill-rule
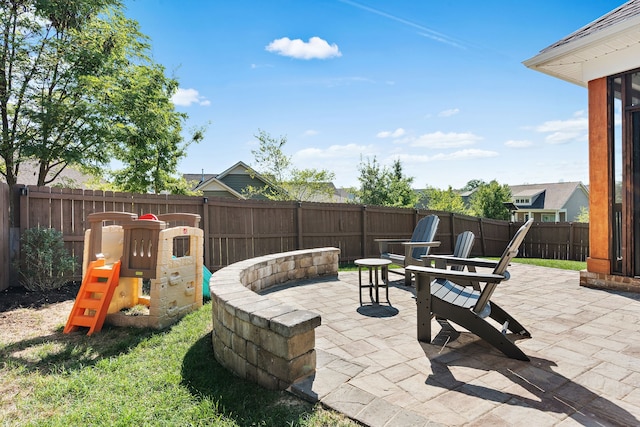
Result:
<svg viewBox="0 0 640 427"><path fill-rule="evenodd" d="M62 328L0 344L1 425L356 425L219 365L210 303L165 331Z"/></svg>

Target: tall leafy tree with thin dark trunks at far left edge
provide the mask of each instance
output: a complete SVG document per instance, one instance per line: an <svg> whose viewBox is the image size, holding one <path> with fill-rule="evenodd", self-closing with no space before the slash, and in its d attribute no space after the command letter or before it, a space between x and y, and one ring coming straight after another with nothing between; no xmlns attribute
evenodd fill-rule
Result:
<svg viewBox="0 0 640 427"><path fill-rule="evenodd" d="M122 35L115 35L117 23L99 31L95 22L117 4L7 0L0 6L0 156L9 185L26 159L39 163L38 185L45 185L70 163L108 158L88 77L109 73L108 58Z"/></svg>

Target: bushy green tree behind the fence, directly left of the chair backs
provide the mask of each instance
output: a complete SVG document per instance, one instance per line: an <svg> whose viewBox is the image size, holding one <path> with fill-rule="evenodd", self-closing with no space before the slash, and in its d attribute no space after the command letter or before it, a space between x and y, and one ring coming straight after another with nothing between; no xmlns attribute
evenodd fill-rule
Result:
<svg viewBox="0 0 640 427"><path fill-rule="evenodd" d="M393 163L389 170L378 163L376 157L360 159L358 166L360 188L355 190L358 203L365 205L413 207L419 195L411 188L412 177L402 172L400 160Z"/></svg>

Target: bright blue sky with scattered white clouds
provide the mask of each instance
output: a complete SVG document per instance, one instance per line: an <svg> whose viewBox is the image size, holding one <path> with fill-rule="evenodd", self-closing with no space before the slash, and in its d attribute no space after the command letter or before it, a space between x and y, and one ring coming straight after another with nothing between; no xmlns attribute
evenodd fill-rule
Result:
<svg viewBox="0 0 640 427"><path fill-rule="evenodd" d="M522 61L623 0L125 0L180 82L181 173L254 166L256 135L358 185L400 159L415 188L588 184L587 90Z"/></svg>

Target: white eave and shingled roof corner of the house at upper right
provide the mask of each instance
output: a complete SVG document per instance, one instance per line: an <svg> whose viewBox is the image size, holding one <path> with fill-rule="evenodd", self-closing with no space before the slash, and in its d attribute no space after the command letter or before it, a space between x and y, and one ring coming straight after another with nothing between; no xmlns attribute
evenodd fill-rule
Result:
<svg viewBox="0 0 640 427"><path fill-rule="evenodd" d="M524 65L586 86L640 66L640 0L631 0L546 47Z"/></svg>

